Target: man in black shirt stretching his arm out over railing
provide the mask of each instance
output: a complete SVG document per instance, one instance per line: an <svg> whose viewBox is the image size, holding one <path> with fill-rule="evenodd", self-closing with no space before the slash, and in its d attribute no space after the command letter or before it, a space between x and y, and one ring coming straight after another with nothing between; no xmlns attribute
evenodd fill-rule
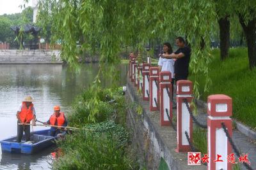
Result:
<svg viewBox="0 0 256 170"><path fill-rule="evenodd" d="M161 56L166 59L177 59L174 64L175 81L187 80L191 50L185 46L185 40L182 37L176 38L176 45L179 49L175 53Z"/></svg>

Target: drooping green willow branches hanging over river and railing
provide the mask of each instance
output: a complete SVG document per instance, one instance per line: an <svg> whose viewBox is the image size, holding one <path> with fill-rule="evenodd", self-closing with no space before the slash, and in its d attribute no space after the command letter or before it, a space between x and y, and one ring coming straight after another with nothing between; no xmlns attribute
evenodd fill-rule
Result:
<svg viewBox="0 0 256 170"><path fill-rule="evenodd" d="M122 45L143 51L149 39L186 36L192 49L190 70L196 76L194 92L199 97L198 78L205 78L205 90L210 83L207 65L214 9L213 0L40 0L38 22L51 24L52 42L61 39L62 57L69 64L76 63L81 52L100 53L95 84L100 83L100 74L116 77ZM97 99L91 104L97 104Z"/></svg>

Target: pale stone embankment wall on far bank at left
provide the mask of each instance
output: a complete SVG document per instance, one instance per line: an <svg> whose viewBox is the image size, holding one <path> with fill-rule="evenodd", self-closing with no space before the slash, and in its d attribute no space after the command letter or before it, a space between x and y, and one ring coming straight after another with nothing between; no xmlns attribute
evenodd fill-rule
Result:
<svg viewBox="0 0 256 170"><path fill-rule="evenodd" d="M0 64L62 64L60 50L0 50Z"/></svg>

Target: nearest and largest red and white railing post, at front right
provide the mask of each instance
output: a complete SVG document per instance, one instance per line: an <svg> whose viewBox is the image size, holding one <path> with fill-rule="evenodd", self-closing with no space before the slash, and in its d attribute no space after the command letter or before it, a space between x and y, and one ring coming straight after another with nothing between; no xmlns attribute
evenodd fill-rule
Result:
<svg viewBox="0 0 256 170"><path fill-rule="evenodd" d="M208 96L208 169L232 169L232 164L227 162L227 156L232 152L225 131L221 123L227 127L228 134L232 136L232 98L223 94ZM223 162L216 162L218 155Z"/></svg>

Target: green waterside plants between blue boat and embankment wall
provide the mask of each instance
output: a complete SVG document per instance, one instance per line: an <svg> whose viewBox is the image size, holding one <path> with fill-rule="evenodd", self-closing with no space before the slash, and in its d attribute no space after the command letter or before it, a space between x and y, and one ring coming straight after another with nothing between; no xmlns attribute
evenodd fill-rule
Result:
<svg viewBox="0 0 256 170"><path fill-rule="evenodd" d="M100 89L95 123L89 117L91 88L76 97L67 115L70 126L80 127L58 142L63 155L53 169L138 169L125 128L126 104L122 88Z"/></svg>

